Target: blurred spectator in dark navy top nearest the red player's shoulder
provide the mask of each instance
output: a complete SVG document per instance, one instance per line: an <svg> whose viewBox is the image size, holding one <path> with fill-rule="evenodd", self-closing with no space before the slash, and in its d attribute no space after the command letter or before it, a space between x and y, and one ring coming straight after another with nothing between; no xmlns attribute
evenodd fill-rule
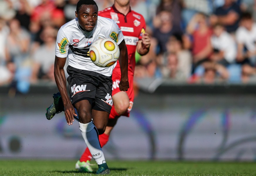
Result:
<svg viewBox="0 0 256 176"><path fill-rule="evenodd" d="M153 29L153 37L157 39L159 51L157 53L166 52L166 43L173 34L182 35L180 27L172 24L172 14L168 11L162 11L154 19L155 29Z"/></svg>

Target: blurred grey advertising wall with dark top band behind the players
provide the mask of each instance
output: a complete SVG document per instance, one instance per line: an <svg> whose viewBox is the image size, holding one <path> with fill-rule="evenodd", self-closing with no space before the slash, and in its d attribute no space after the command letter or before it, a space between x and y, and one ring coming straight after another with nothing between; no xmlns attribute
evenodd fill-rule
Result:
<svg viewBox="0 0 256 176"><path fill-rule="evenodd" d="M180 88L186 93L179 93ZM194 88L169 85L155 93L140 91L130 118L119 119L104 147L106 158L255 161L255 86ZM6 90L1 88L1 158L79 158L85 145L78 122L67 126L63 113L45 118L54 86L38 86L12 98Z"/></svg>

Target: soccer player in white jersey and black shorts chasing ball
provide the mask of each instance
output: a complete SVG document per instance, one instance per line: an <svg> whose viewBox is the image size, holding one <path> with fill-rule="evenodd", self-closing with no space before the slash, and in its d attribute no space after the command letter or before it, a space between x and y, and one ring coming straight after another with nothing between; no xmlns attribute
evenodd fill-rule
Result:
<svg viewBox="0 0 256 176"><path fill-rule="evenodd" d="M116 64L107 68L94 65L89 58L89 48L92 42L101 37L112 38L116 41L120 49L119 88L121 91L127 91L129 88L127 47L116 22L98 17L98 6L95 1L80 0L77 3L75 15L77 18L63 25L57 34L55 81L62 97L67 124L72 125L74 116L79 116L82 136L99 166L96 174L109 174L110 170L106 164L98 135L104 133L108 123L112 107L111 75ZM66 91L64 72L67 58L69 95ZM78 114L75 113L74 108L77 109Z"/></svg>

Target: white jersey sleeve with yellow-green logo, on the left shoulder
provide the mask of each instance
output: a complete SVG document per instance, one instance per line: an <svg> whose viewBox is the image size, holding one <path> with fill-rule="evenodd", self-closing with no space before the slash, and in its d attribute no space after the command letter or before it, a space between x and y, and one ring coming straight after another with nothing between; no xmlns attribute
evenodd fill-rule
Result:
<svg viewBox="0 0 256 176"><path fill-rule="evenodd" d="M62 57L62 58L67 57L70 43L62 27L60 28L57 34L56 41L57 42L55 46L55 55L57 57Z"/></svg>

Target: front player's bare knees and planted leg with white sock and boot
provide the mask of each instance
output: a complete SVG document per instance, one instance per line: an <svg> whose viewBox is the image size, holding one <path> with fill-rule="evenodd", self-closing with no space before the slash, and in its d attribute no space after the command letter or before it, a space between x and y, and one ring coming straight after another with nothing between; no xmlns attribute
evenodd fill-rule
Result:
<svg viewBox="0 0 256 176"><path fill-rule="evenodd" d="M110 170L108 169L101 145L98 140L98 130L91 121L93 116L93 119L100 123L99 126L102 127L101 130L105 130L104 126L106 126L106 122L108 121L109 113L106 111L93 111L91 114L91 104L88 100L81 100L75 103L74 107L78 112L79 128L84 141L91 152L91 156L95 159L99 166L99 170L96 172L96 174L109 174Z"/></svg>

